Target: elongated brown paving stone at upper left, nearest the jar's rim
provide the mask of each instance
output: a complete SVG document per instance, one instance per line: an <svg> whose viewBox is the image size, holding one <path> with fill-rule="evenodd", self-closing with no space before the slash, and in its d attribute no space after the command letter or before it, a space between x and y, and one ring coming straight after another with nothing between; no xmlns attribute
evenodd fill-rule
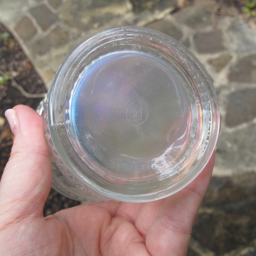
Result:
<svg viewBox="0 0 256 256"><path fill-rule="evenodd" d="M32 43L31 49L34 55L44 55L49 52L50 49L55 49L67 44L69 40L69 33L60 26L57 26L45 38Z"/></svg>

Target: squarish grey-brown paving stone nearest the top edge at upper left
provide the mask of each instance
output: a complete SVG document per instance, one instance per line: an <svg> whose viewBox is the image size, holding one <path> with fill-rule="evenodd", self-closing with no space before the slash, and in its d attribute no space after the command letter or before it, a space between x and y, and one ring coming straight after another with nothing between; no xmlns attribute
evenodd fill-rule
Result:
<svg viewBox="0 0 256 256"><path fill-rule="evenodd" d="M32 8L30 13L44 31L58 20L58 17L45 4Z"/></svg>

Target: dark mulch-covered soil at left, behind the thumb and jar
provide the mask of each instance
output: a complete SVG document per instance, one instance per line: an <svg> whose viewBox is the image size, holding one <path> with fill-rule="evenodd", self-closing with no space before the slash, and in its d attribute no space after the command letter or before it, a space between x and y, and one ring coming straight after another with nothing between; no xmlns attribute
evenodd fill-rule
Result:
<svg viewBox="0 0 256 256"><path fill-rule="evenodd" d="M7 109L23 104L36 109L42 98L26 98L8 79L11 75L28 93L46 93L44 83L29 59L20 48L12 34L0 24L0 76L7 74L6 81L0 79L0 119L3 120ZM10 74L10 75L8 75ZM0 178L12 150L13 134L6 121L0 125ZM53 214L61 209L66 209L80 204L78 201L65 198L51 189L44 206L44 215Z"/></svg>

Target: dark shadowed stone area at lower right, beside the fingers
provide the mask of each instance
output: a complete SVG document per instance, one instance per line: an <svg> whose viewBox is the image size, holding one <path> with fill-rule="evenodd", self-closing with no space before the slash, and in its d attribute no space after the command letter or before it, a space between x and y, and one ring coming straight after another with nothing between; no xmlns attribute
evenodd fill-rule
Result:
<svg viewBox="0 0 256 256"><path fill-rule="evenodd" d="M256 238L256 174L212 177L201 207L208 210L199 211L192 236L202 246L216 255L247 246Z"/></svg>

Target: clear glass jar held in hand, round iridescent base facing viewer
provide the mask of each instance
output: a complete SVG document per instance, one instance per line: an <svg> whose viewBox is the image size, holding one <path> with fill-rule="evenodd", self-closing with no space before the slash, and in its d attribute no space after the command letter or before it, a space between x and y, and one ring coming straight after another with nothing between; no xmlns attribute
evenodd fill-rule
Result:
<svg viewBox="0 0 256 256"><path fill-rule="evenodd" d="M76 200L146 202L189 184L219 130L209 76L160 32L100 32L62 62L39 109L57 191Z"/></svg>

